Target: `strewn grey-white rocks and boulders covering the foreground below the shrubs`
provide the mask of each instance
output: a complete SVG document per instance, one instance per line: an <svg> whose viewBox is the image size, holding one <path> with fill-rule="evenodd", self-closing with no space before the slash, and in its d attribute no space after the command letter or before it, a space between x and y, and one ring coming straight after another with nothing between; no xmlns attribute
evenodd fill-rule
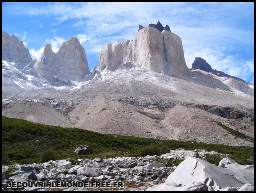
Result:
<svg viewBox="0 0 256 193"><path fill-rule="evenodd" d="M14 166L15 170L8 176L7 171L10 166L2 165L2 187L3 190L6 190L7 181L123 181L125 187L123 190L145 190L152 185L162 184L168 179L168 183L164 183L161 186L152 187L155 189L165 189L167 186L172 186L172 188L183 190L205 190L209 188L208 186L217 185L219 188L223 186L223 183L219 182L215 177L207 177L212 175L214 171L222 170L223 168L217 166L209 166L210 163L195 159L195 157L204 158L205 154L219 154L220 156L228 156L227 154L220 154L218 152L207 152L206 150L195 151L186 151L183 149L171 150L169 153L163 154L161 156L146 156L146 157L117 157L109 159L86 159L86 160L57 160L57 161L48 161L45 163L34 163L30 165L19 165ZM172 166L167 167L164 162L166 160L177 160L185 159L178 167ZM194 160L195 159L195 160ZM159 162L160 161L160 162ZM72 163L76 162L75 164ZM201 163L202 162L202 163ZM247 180L247 173L254 172L253 166L240 166L235 161L230 158L224 158L221 162L229 166L225 168L227 171L233 170L244 170L243 178L246 179L244 183L253 184L250 180ZM197 165L195 172L192 172L194 165ZM201 165L200 165L201 164ZM199 167L200 165L200 167ZM212 165L212 164L210 164ZM227 167L226 166L226 167ZM203 168L210 167L211 170L207 173ZM216 169L217 168L217 169ZM178 169L178 170L177 170ZM189 178L187 175L189 172L186 172L187 177L183 177L184 171L190 171L193 179ZM183 170L183 172L181 171ZM173 171L176 171L175 173ZM175 174L175 177L172 176L172 172ZM193 173L193 174L192 174ZM170 175L171 174L171 175ZM173 174L173 175L174 175ZM237 174L237 173L232 173ZM250 174L252 175L252 174ZM169 177L168 177L169 176ZM194 178L196 176L196 178ZM206 177L205 177L206 176ZM251 177L251 176L250 176ZM209 183L206 183L206 178L208 178ZM194 179L197 179L193 181ZM231 177L233 181L233 177ZM253 179L253 178L251 178ZM180 181L179 181L180 180ZM240 179L243 180L243 179ZM193 183L194 182L194 183ZM182 188L180 188L182 185ZM233 185L239 185L241 183L232 183ZM136 187L136 188L134 188ZM161 188L163 187L163 188ZM244 188L250 188L251 186ZM40 188L39 188L40 189ZM39 190L39 189L29 189L25 190ZM42 190L42 188L41 188ZM62 190L62 189L60 189ZM72 188L66 189L72 190Z"/></svg>

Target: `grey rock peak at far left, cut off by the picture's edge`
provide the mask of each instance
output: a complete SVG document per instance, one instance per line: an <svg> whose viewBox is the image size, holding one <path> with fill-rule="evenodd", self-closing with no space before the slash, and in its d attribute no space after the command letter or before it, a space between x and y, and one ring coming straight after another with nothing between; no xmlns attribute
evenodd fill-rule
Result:
<svg viewBox="0 0 256 193"><path fill-rule="evenodd" d="M2 31L2 60L14 62L17 69L30 69L36 60L32 60L28 49L14 35Z"/></svg>

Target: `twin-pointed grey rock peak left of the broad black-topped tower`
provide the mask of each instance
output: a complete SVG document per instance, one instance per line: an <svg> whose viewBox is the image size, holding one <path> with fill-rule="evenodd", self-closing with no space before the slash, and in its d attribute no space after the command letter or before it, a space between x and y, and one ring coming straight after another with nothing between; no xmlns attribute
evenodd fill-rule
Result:
<svg viewBox="0 0 256 193"><path fill-rule="evenodd" d="M76 37L63 43L56 54L47 44L34 69L54 86L71 85L71 80L82 81L90 73L84 48Z"/></svg>

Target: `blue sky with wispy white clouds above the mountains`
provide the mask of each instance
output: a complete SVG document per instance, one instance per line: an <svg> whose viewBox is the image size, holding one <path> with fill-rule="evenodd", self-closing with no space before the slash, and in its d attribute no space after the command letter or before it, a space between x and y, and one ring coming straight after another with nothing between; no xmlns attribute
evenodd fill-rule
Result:
<svg viewBox="0 0 256 193"><path fill-rule="evenodd" d="M77 36L90 70L108 42L132 40L138 25L159 20L181 37L185 60L254 84L254 3L2 3L2 30L24 41L33 59L47 43L57 52Z"/></svg>

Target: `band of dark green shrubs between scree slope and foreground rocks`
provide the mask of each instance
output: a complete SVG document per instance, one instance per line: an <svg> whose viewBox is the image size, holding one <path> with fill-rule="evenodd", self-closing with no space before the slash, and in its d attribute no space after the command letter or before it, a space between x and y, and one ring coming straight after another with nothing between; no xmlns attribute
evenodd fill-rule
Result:
<svg viewBox="0 0 256 193"><path fill-rule="evenodd" d="M90 155L72 153L82 144L90 145L92 149ZM160 155L169 152L170 149L175 150L180 147L186 150L205 149L228 153L240 164L254 163L252 161L254 160L253 147L100 134L82 129L35 124L2 116L2 164L5 165L42 163L67 158L77 160L96 157Z"/></svg>

